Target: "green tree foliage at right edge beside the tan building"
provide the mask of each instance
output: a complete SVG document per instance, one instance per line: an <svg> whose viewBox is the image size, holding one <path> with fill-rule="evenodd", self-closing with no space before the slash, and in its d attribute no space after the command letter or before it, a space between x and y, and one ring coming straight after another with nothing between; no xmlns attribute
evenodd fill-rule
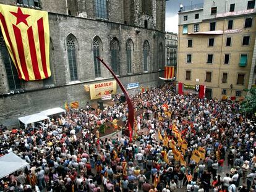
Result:
<svg viewBox="0 0 256 192"><path fill-rule="evenodd" d="M256 88L251 88L249 94L241 104L241 112L255 114L256 112Z"/></svg>

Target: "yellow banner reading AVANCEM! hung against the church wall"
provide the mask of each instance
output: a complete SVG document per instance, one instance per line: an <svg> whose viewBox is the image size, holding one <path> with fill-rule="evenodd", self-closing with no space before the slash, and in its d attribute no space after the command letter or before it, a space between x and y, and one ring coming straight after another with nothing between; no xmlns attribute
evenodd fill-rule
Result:
<svg viewBox="0 0 256 192"><path fill-rule="evenodd" d="M105 81L90 85L91 99L100 99L107 94L116 94L116 81Z"/></svg>

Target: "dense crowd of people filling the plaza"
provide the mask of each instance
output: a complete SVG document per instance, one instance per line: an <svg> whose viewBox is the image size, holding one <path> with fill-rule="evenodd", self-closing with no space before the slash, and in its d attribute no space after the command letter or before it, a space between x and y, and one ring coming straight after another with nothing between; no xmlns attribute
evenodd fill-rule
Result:
<svg viewBox="0 0 256 192"><path fill-rule="evenodd" d="M1 156L13 151L30 167L2 178L1 189L256 191L256 124L254 117L239 114L239 103L178 95L168 84L131 99L135 111L143 110L132 143L127 136L101 139L96 130L107 121L127 120L125 103L103 111L87 104L35 128L2 129ZM187 143L186 150L179 140ZM196 162L192 156L198 148L205 154Z"/></svg>

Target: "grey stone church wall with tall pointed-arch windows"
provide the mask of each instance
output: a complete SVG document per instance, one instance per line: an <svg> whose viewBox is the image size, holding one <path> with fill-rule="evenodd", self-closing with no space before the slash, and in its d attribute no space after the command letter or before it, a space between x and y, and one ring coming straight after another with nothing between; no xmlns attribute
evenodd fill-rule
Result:
<svg viewBox="0 0 256 192"><path fill-rule="evenodd" d="M17 78L0 38L0 124L65 102L89 102L83 86L113 80L100 56L126 86L156 86L164 68L165 0L0 0L48 11L50 65L47 80ZM118 86L117 86L118 87ZM121 90L117 88L117 92Z"/></svg>

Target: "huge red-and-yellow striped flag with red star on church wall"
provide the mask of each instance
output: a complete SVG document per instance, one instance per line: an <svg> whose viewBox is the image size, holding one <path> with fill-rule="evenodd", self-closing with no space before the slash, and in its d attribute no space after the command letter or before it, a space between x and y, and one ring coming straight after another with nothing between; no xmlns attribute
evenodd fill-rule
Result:
<svg viewBox="0 0 256 192"><path fill-rule="evenodd" d="M50 77L48 12L0 4L0 25L19 78Z"/></svg>

